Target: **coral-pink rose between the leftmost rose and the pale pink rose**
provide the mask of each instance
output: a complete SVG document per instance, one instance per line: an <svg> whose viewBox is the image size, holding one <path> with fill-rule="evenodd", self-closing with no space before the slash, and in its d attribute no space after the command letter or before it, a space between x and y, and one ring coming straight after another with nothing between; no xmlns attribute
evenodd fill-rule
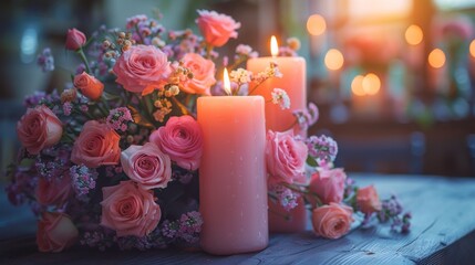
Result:
<svg viewBox="0 0 475 265"><path fill-rule="evenodd" d="M116 165L121 156L118 140L121 137L105 124L89 120L74 141L71 161L84 163L89 168L103 165Z"/></svg>

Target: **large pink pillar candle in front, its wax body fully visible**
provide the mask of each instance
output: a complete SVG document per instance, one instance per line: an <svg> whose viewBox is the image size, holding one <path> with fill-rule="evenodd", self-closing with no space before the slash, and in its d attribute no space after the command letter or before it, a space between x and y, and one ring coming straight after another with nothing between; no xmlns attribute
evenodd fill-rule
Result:
<svg viewBox="0 0 475 265"><path fill-rule="evenodd" d="M264 250L269 241L264 98L199 97L198 123L203 250L216 255Z"/></svg>

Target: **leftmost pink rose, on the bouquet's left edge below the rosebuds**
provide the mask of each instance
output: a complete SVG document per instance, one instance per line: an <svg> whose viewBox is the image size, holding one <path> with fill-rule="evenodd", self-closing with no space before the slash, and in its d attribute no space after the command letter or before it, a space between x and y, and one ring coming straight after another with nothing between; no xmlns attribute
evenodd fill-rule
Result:
<svg viewBox="0 0 475 265"><path fill-rule="evenodd" d="M21 144L31 155L56 145L63 135L63 127L56 115L47 106L29 108L17 124Z"/></svg>

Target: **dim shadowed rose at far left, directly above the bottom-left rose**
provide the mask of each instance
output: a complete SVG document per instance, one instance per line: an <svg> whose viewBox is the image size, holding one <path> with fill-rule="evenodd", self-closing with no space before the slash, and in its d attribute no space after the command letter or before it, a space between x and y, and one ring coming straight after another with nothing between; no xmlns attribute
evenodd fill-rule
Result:
<svg viewBox="0 0 475 265"><path fill-rule="evenodd" d="M63 205L72 191L70 176L61 178L40 178L37 187L37 200L42 205Z"/></svg>

